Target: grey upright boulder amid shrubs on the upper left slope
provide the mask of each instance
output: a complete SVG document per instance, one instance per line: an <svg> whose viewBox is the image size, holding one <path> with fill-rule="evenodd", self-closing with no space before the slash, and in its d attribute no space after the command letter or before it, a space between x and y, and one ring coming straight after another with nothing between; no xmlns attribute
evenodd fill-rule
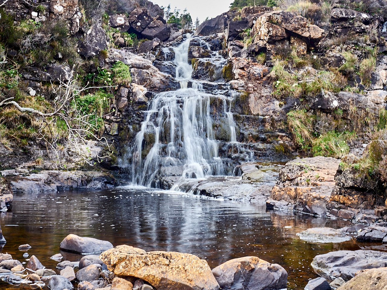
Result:
<svg viewBox="0 0 387 290"><path fill-rule="evenodd" d="M86 58L96 56L106 46L106 33L101 22L94 22L84 38L79 40L79 54Z"/></svg>

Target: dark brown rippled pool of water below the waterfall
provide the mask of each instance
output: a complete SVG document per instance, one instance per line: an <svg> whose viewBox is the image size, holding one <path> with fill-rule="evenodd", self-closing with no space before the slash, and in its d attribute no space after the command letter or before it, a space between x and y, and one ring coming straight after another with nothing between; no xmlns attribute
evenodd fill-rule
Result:
<svg viewBox="0 0 387 290"><path fill-rule="evenodd" d="M108 240L114 246L195 254L211 268L229 259L258 256L283 266L288 271L288 289L295 290L317 277L310 267L317 254L360 249L356 241L312 244L296 236L310 227L343 227L346 221L265 212L265 206L138 188L15 193L12 209L1 213L0 223L7 239L3 253L25 261L18 246L28 243L30 256L34 254L53 270L58 262L49 257L60 252L66 235L77 234ZM62 261L81 257L62 255ZM1 289L19 288L0 283Z"/></svg>

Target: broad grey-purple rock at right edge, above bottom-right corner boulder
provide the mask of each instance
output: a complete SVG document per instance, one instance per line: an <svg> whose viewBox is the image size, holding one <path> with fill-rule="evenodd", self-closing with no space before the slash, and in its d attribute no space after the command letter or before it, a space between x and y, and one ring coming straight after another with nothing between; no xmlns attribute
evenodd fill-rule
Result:
<svg viewBox="0 0 387 290"><path fill-rule="evenodd" d="M345 281L360 270L383 268L387 263L387 253L378 251L335 251L317 255L312 267L319 275L341 277Z"/></svg>

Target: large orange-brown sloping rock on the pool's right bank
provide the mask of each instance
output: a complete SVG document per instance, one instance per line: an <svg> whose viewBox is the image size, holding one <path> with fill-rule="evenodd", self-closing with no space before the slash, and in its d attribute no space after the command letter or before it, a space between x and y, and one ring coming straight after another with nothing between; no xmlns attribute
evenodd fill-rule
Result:
<svg viewBox="0 0 387 290"><path fill-rule="evenodd" d="M335 185L340 160L304 158L288 162L279 173L267 202L275 208L324 215Z"/></svg>

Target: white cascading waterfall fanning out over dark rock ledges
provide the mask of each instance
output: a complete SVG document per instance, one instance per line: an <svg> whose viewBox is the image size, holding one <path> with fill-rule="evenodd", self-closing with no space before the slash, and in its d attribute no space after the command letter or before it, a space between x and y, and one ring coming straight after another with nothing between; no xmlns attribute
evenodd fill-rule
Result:
<svg viewBox="0 0 387 290"><path fill-rule="evenodd" d="M182 167L183 179L225 174L214 138L211 100L223 99L231 132L229 142L236 142L231 100L227 111L227 97L208 94L199 81L192 80L193 68L188 63L191 40L188 35L187 40L174 48L176 79L181 89L154 97L136 135L132 160L134 184L151 186L159 168L168 166Z"/></svg>

